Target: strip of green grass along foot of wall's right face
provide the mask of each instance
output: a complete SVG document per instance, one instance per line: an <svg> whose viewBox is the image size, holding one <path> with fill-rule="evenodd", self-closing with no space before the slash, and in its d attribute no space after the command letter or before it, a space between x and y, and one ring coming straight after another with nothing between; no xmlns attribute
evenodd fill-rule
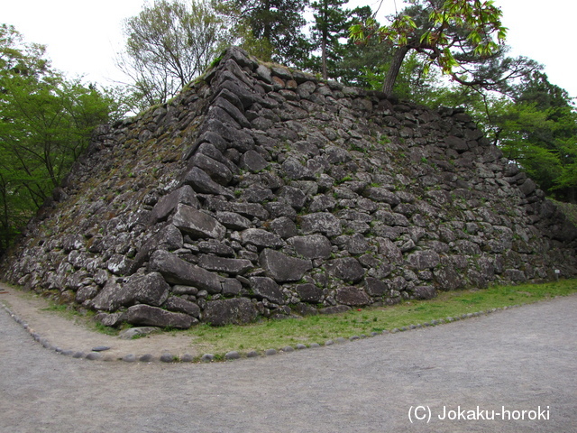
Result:
<svg viewBox="0 0 577 433"><path fill-rule="evenodd" d="M371 332L382 332L385 329L552 299L574 292L577 292L577 280L494 286L486 290L442 292L435 299L409 300L386 308L353 309L343 314L265 320L243 327L199 325L179 332L192 337L192 345L199 353L224 354L232 350L241 353L251 350L261 352L298 343L323 345L326 340L339 336L370 335Z"/></svg>

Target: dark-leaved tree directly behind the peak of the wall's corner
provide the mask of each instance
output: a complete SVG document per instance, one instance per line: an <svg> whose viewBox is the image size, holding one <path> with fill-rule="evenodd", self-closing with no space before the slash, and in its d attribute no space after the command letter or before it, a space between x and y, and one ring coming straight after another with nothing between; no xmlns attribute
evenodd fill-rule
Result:
<svg viewBox="0 0 577 433"><path fill-rule="evenodd" d="M224 0L218 11L234 23L241 46L266 61L301 67L311 50L302 32L308 0Z"/></svg>

